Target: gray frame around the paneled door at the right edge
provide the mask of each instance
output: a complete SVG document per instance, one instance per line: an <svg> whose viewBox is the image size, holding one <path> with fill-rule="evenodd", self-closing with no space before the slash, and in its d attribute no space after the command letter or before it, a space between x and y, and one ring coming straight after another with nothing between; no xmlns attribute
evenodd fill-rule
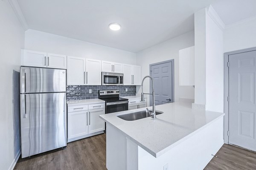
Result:
<svg viewBox="0 0 256 170"><path fill-rule="evenodd" d="M246 48L242 50L237 51L231 51L224 53L224 143L229 144L228 139L228 131L229 131L229 102L228 102L228 96L229 96L229 68L228 68L228 62L229 62L229 55L232 54L239 54L239 53L245 53L249 51L256 51L256 47L253 48Z"/></svg>

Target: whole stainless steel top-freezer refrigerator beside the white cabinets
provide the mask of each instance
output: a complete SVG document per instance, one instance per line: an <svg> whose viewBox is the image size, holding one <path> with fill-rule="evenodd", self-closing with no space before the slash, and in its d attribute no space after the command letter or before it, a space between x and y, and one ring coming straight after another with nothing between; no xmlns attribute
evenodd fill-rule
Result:
<svg viewBox="0 0 256 170"><path fill-rule="evenodd" d="M20 67L22 158L67 146L66 70Z"/></svg>

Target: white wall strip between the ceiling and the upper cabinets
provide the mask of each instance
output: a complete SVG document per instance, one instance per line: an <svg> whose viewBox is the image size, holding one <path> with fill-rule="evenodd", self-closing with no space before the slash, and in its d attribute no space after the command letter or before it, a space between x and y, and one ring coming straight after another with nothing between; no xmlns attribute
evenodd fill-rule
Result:
<svg viewBox="0 0 256 170"><path fill-rule="evenodd" d="M29 29L25 32L25 49L135 64L136 54L90 42Z"/></svg>

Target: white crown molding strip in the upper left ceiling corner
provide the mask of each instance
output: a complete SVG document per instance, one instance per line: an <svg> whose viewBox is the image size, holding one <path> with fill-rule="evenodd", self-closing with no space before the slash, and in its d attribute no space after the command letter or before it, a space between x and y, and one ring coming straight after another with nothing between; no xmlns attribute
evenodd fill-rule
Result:
<svg viewBox="0 0 256 170"><path fill-rule="evenodd" d="M28 30L29 26L26 22L26 19L23 15L21 9L20 9L20 6L19 6L17 0L8 0L8 1L9 1L10 5L12 6L12 9L15 12L17 18L19 19L20 24L23 27L24 31Z"/></svg>

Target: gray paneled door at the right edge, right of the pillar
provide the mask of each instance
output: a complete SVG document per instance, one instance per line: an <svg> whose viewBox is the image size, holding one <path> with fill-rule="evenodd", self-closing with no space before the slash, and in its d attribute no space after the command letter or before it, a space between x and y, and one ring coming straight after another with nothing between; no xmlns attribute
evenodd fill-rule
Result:
<svg viewBox="0 0 256 170"><path fill-rule="evenodd" d="M229 143L256 151L256 51L229 55Z"/></svg>

